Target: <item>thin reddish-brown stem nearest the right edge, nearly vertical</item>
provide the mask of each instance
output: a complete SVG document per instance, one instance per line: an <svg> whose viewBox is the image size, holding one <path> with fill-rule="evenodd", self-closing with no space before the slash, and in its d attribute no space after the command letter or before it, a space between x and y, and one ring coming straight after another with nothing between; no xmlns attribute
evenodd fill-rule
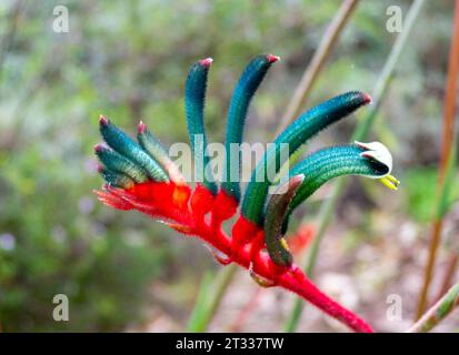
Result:
<svg viewBox="0 0 459 355"><path fill-rule="evenodd" d="M445 184L445 174L447 162L452 150L455 134L455 111L456 111L456 93L458 88L459 74L459 0L455 2L455 24L452 29L451 47L449 52L448 77L445 88L443 102L443 131L442 144L439 166L438 190L442 190ZM419 295L416 318L419 318L428 306L429 288L433 275L433 266L437 261L437 250L441 240L441 231L443 225L443 215L433 216L432 229L429 244L429 256L426 264L422 290Z"/></svg>

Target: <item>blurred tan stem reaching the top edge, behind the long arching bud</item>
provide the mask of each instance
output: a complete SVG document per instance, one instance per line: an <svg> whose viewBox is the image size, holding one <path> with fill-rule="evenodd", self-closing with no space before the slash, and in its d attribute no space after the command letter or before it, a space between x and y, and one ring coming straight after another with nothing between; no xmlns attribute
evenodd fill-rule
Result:
<svg viewBox="0 0 459 355"><path fill-rule="evenodd" d="M279 135L280 132L282 132L300 113L301 108L305 105L306 100L312 90L316 79L319 77L320 70L330 57L330 53L356 9L357 3L358 0L346 0L341 3L337 14L328 26L326 33L322 36L322 40L312 55L309 65L306 68L301 81L295 90L286 113L278 125L276 135Z"/></svg>

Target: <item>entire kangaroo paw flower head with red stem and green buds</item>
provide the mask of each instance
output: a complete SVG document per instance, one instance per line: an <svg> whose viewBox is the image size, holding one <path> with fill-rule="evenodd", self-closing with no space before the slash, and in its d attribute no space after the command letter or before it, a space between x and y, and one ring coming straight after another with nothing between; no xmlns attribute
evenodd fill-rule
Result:
<svg viewBox="0 0 459 355"><path fill-rule="evenodd" d="M251 98L270 65L279 60L272 54L253 59L242 73L231 99L227 129L227 175L231 166L228 149L242 141L243 124ZM300 115L268 149L252 173L242 206L239 183L223 181L219 190L209 174L207 138L203 126L206 85L212 60L194 63L184 90L186 116L194 168L202 180L191 187L159 140L140 122L137 142L104 116L100 133L107 143L96 145L99 173L106 183L96 191L98 199L113 209L137 210L174 231L203 241L222 265L236 263L246 268L263 287L279 286L310 302L326 314L356 332L371 332L359 316L323 294L293 263L285 234L291 212L327 181L341 175L378 179L391 189L399 182L390 175L392 158L381 143L359 143L322 149L293 166L281 180L283 194L267 203L271 181L266 169L279 173L280 166L311 136L370 102L368 94L352 91L333 98ZM282 154L283 145L288 154ZM239 154L239 152L238 152ZM228 176L227 176L228 178ZM282 185L283 184L283 185ZM280 191L278 191L280 192ZM228 235L222 223L236 222Z"/></svg>

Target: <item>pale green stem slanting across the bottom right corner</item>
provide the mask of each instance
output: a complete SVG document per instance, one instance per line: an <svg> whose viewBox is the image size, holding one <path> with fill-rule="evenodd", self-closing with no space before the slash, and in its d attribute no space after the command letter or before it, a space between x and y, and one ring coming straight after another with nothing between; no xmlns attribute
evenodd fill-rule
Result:
<svg viewBox="0 0 459 355"><path fill-rule="evenodd" d="M426 314L408 329L408 333L427 333L459 306L459 284L452 286Z"/></svg>

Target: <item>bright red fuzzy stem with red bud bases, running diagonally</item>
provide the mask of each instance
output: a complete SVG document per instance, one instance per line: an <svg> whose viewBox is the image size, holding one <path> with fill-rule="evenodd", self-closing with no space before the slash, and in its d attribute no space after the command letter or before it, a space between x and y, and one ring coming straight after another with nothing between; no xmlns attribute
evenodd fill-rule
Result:
<svg viewBox="0 0 459 355"><path fill-rule="evenodd" d="M263 250L263 231L256 224L240 216L230 239L222 231L221 223L236 213L237 203L224 192L213 197L202 185L190 193L188 186L148 182L130 190L107 187L98 195L101 202L116 209L136 209L153 217L172 220L177 224L171 223L171 227L198 236L224 254L228 262L251 271L267 284L296 293L356 332L372 332L356 314L323 294L297 265L276 265ZM211 219L207 222L206 214L209 212Z"/></svg>

